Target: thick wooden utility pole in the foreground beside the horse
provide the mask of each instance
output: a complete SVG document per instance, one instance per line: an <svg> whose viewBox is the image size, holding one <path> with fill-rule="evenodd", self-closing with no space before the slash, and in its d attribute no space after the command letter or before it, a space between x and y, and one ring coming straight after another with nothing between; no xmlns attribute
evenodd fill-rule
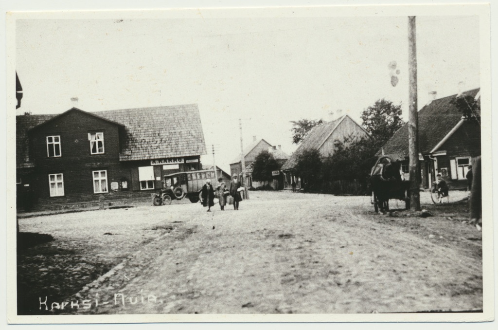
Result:
<svg viewBox="0 0 498 330"><path fill-rule="evenodd" d="M417 41L415 16L408 16L409 114L408 153L410 170L410 209L420 211L420 166L418 164Z"/></svg>

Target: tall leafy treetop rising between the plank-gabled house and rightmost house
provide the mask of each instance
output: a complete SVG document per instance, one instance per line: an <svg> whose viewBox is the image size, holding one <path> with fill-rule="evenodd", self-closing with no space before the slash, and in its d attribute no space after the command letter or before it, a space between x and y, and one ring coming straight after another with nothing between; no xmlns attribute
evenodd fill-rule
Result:
<svg viewBox="0 0 498 330"><path fill-rule="evenodd" d="M401 105L394 105L384 99L377 100L373 106L364 109L361 118L362 126L371 134L378 147L404 125L401 119Z"/></svg>

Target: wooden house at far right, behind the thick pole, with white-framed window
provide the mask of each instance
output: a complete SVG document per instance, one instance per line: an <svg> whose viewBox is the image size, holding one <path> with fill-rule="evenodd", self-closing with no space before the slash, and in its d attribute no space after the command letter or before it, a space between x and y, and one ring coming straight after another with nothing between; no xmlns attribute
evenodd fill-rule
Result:
<svg viewBox="0 0 498 330"><path fill-rule="evenodd" d="M430 189L436 175L441 173L450 189L465 189L469 165L481 155L480 113L464 117L455 102L461 96L478 101L480 89L433 100L418 112L422 188ZM408 125L401 127L376 155L401 161L403 173L408 179Z"/></svg>

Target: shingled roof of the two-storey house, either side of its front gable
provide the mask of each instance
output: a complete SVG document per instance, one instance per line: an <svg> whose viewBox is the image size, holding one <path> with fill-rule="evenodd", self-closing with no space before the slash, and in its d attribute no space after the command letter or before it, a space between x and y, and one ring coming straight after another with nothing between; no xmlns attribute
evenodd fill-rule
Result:
<svg viewBox="0 0 498 330"><path fill-rule="evenodd" d="M89 113L121 124L126 132L120 161L206 155L196 104L109 110ZM59 115L16 117L17 165L28 164L26 132Z"/></svg>

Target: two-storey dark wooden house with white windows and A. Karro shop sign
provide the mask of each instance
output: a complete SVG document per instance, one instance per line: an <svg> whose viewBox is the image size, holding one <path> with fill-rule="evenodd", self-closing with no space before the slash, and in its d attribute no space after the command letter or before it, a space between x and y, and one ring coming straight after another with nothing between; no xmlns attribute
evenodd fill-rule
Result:
<svg viewBox="0 0 498 330"><path fill-rule="evenodd" d="M197 105L16 118L17 204L64 206L150 196L161 177L201 169Z"/></svg>

